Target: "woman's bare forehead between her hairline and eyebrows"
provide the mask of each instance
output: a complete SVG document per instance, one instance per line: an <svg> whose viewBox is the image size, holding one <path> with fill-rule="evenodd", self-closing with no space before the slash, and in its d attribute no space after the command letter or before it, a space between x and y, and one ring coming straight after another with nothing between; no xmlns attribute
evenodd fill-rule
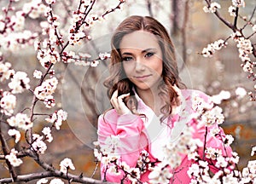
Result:
<svg viewBox="0 0 256 184"><path fill-rule="evenodd" d="M159 43L154 34L144 31L136 31L126 34L120 44L119 49L158 49Z"/></svg>

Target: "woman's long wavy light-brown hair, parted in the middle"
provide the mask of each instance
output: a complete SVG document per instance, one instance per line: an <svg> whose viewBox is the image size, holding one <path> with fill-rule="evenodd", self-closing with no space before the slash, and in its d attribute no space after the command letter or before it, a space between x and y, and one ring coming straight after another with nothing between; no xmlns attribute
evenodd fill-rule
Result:
<svg viewBox="0 0 256 184"><path fill-rule="evenodd" d="M119 95L130 93L130 96L125 98L125 104L131 110L136 112L137 100L132 89L134 84L126 77L122 58L120 55L119 43L122 38L131 32L145 31L154 34L158 38L160 49L163 55L163 71L162 82L159 85L160 97L165 101L165 105L161 107L160 112L164 114L161 121L172 113L172 103L177 102L177 93L173 89L176 84L178 88L184 88L185 85L181 83L178 76L177 60L175 55L175 48L171 38L166 32L166 28L149 16L133 15L123 20L113 33L111 40L111 61L109 64L110 76L105 80L104 85L108 88L109 99L113 92L118 89Z"/></svg>

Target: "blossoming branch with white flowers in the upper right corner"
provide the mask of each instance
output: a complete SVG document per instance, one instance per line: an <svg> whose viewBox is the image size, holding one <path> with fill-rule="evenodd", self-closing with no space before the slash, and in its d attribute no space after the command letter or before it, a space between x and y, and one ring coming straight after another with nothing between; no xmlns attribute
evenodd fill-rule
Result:
<svg viewBox="0 0 256 184"><path fill-rule="evenodd" d="M227 46L228 41L232 39L237 46L239 58L241 60L241 67L244 72L247 72L247 78L256 80L255 66L256 66L256 47L253 41L255 40L256 35L256 25L255 17L256 14L256 5L253 9L253 13L250 15L241 15L240 9L245 8L246 3L244 0L232 0L232 4L228 9L228 12L231 17L234 18L233 23L228 21L218 12L218 9L221 9L221 5L211 0L205 0L207 6L203 8L206 13L215 14L221 22L224 23L232 32L229 37L226 37L224 40L219 39L214 43L207 45L207 48L204 48L201 54L205 57L211 57L217 50L220 50ZM238 21L241 20L242 26L238 26ZM253 22L254 21L254 22ZM250 96L250 101L256 101L256 84L254 85L253 91L248 92Z"/></svg>

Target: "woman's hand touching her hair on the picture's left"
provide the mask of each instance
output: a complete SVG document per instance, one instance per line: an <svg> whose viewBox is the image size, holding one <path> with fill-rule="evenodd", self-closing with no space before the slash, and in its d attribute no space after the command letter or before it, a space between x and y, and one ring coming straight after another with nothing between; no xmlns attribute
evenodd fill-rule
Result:
<svg viewBox="0 0 256 184"><path fill-rule="evenodd" d="M125 102L123 101L125 97L129 95L130 93L118 96L118 90L113 92L110 102L119 115L131 113L130 109L127 106L125 106Z"/></svg>

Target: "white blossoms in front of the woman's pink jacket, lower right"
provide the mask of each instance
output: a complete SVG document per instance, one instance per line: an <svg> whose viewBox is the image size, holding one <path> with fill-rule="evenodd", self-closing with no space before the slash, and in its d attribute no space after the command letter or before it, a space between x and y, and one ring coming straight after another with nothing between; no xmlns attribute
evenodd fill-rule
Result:
<svg viewBox="0 0 256 184"><path fill-rule="evenodd" d="M223 93L224 98L230 98L230 94ZM223 97L221 98L218 101L224 99ZM196 112L196 116L193 118L198 119L197 128L201 126L211 127L212 132L210 134L206 132L206 139L221 136L219 124L224 122L222 109L219 106L214 106L213 103L207 103L198 95L193 95L192 100L193 110ZM182 117L180 119L183 120ZM134 168L122 162L118 154L114 154L115 150L121 147L118 136L112 135L108 137L102 147L99 146L99 142L96 142L94 153L97 160L101 160L102 164L108 165L108 172L114 175L123 174L124 178L131 181L131 183L141 182L140 176L146 171L150 171L148 175L150 183L169 183L178 172L178 170L175 172L174 170L181 164L183 155L188 155L188 159L192 160L188 170L188 175L191 178L190 183L221 184L253 183L256 181L255 161L249 161L247 167L242 171L236 170L236 164L239 162L236 152L231 152L230 155L227 155L218 148L205 147L205 143L202 140L193 137L194 131L193 127L185 124L182 133L176 139L168 141L163 147L162 152L165 156L162 160L150 161L148 152L143 150ZM222 141L224 147L230 147L234 138L232 135L224 135ZM201 156L201 150L203 151L203 156ZM251 155L253 156L255 152L256 147L253 147ZM212 174L211 168L215 168L218 171Z"/></svg>

